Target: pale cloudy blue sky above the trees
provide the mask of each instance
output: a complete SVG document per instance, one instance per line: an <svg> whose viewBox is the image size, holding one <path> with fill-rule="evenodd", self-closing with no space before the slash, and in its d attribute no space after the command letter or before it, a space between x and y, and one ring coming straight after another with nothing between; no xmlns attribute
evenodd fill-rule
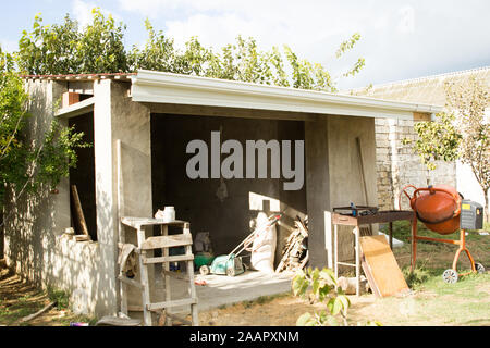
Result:
<svg viewBox="0 0 490 348"><path fill-rule="evenodd" d="M126 46L143 45L144 20L149 17L182 45L198 36L219 48L241 34L253 36L262 49L289 45L302 58L320 62L341 75L358 57L366 67L341 88L364 87L406 78L490 65L490 1L487 0L24 0L2 1L0 44L16 48L23 29L36 13L44 23L60 23L66 13L81 23L90 9L127 24ZM340 42L360 33L359 45L342 60Z"/></svg>

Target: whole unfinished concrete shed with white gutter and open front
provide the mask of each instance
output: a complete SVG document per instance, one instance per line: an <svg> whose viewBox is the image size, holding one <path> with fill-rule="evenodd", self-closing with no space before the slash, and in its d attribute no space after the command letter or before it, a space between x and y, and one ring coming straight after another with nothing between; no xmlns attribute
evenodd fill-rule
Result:
<svg viewBox="0 0 490 348"><path fill-rule="evenodd" d="M331 268L332 208L378 204L375 117L429 120L440 111L415 102L152 71L29 76L26 86L33 141L39 141L56 117L84 132L94 146L78 151L77 167L60 183L57 194L11 197L5 259L30 281L69 290L75 308L99 316L118 312L120 219L151 217L164 206L175 207L177 219L191 223L193 235L209 232L216 254L230 252L249 234L249 221L258 211L284 211L291 219L308 215L309 264ZM66 92L76 94L76 100L56 108ZM211 132L220 132L222 141L241 144L304 140L304 185L284 190L286 179L270 175L189 178L186 163L192 154L186 153L186 145L193 139L210 144ZM71 185L77 186L91 241L63 237L68 227L77 228ZM287 234L279 229L277 252ZM125 233L128 240L135 238L133 231ZM352 258L352 233L341 236L341 258Z"/></svg>

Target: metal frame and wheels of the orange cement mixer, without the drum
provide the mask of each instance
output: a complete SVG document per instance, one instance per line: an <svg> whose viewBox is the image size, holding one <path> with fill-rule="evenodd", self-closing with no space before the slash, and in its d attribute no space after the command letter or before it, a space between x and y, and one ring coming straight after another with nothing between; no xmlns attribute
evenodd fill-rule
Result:
<svg viewBox="0 0 490 348"><path fill-rule="evenodd" d="M414 188L414 192L413 196L411 197L407 192L406 189L407 188ZM454 195L452 192L446 191L445 189L442 188L436 188L436 187L422 187L422 188L417 188L414 185L407 185L405 186L402 191L400 192L400 197L399 197L399 208L401 209L401 196L402 192L405 194L405 196L409 199L411 201L411 206L412 209L414 209L412 202L413 199L416 197L416 195L419 191L441 191L441 192L445 192L450 196L453 197L453 199L456 201L457 204L457 209L454 212L453 216L456 216L461 213L461 197L454 197ZM456 253L454 254L454 260L453 260L453 265L452 269L444 271L442 277L444 279L444 282L446 283L456 283L460 276L464 276L464 275L468 275L470 273L476 273L479 272L480 268L482 268L482 265L475 263L475 260L471 257L471 253L469 252L469 250L466 248L466 229L464 228L460 228L460 239L442 239L442 238L432 238L432 237L425 237L425 236L418 236L417 235L417 211L414 209L414 219L412 222L412 262L411 262L411 271L413 271L415 269L415 263L416 263L416 259L417 259L417 240L428 240L428 241L439 241L439 243L446 243L446 244L452 244L452 245L457 245L460 246L460 248L456 250ZM469 262L471 264L471 271L470 272L465 272L465 273L458 273L457 272L457 260L460 259L460 254L462 251L465 251L466 254L468 256ZM453 272L451 272L453 271Z"/></svg>

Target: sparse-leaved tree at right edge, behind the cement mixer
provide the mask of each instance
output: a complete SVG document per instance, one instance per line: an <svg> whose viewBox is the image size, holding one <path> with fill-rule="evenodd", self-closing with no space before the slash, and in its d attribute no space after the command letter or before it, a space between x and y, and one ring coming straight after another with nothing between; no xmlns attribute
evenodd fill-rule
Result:
<svg viewBox="0 0 490 348"><path fill-rule="evenodd" d="M446 112L436 122L415 124L418 139L415 150L429 170L434 161L460 159L471 167L485 196L486 219L490 222L490 122L485 110L489 107L488 87L471 76L464 82L445 84Z"/></svg>

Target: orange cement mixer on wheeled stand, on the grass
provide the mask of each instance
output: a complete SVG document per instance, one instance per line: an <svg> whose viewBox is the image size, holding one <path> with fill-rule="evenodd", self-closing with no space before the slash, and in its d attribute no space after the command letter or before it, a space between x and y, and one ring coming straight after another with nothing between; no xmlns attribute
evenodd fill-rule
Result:
<svg viewBox="0 0 490 348"><path fill-rule="evenodd" d="M408 189L414 191L412 196ZM405 186L400 192L399 209L401 210L402 194L408 198L411 208L414 210L415 216L412 223L412 270L415 268L417 240L441 241L460 246L454 256L453 268L445 270L442 278L446 283L456 283L458 276L473 272L485 272L481 263L476 263L466 248L466 231L460 228L460 220L462 213L463 196L449 185L437 185L417 188L414 185ZM440 235L450 235L460 229L460 240L430 238L417 235L417 219L422 222L427 228ZM460 253L465 251L471 264L471 272L457 273L457 259Z"/></svg>

